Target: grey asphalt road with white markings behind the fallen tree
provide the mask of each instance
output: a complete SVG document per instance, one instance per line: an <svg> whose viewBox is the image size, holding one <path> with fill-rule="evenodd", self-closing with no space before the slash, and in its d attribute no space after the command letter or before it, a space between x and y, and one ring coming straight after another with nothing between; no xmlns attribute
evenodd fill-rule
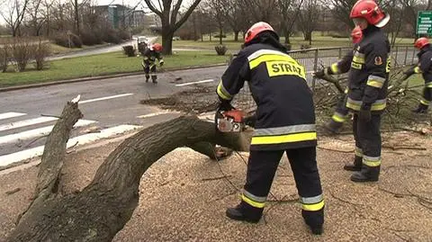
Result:
<svg viewBox="0 0 432 242"><path fill-rule="evenodd" d="M2 93L0 168L23 157L31 157L29 154L36 152L32 149L44 144L44 135L48 134L46 130L49 126L54 125L55 116L60 115L67 101L78 94L81 95L79 108L84 113L84 121L73 131L72 138L93 133L92 130L102 130L102 134L106 130L114 135L166 121L178 115L140 104L140 100L175 94L196 85L216 87L225 68L208 67L162 73L158 75L157 85L145 83L144 76L139 75ZM176 76L183 79L175 82ZM94 139L102 138L87 138L85 141L79 139L76 142L82 144Z"/></svg>

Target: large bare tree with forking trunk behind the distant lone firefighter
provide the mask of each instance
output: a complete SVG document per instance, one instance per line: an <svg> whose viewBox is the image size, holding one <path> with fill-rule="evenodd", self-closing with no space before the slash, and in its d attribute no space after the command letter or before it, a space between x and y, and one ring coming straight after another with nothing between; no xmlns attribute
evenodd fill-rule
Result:
<svg viewBox="0 0 432 242"><path fill-rule="evenodd" d="M151 12L156 13L162 22L162 45L163 53L171 55L173 50L174 32L178 30L187 18L193 13L195 7L200 4L201 0L193 0L193 3L185 7L184 14L177 20L177 15L183 5L183 0L157 0L154 4L151 0L145 0Z"/></svg>

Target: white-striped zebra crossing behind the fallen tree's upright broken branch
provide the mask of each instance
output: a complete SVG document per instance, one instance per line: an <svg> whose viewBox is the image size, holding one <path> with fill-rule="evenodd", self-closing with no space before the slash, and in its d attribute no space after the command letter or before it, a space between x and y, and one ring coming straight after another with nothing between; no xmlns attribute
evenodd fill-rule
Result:
<svg viewBox="0 0 432 242"><path fill-rule="evenodd" d="M54 128L57 120L57 117L40 117L24 112L0 113L0 169L33 157L40 157L46 136ZM97 125L98 121L94 120L77 121L67 141L67 148L140 128L138 125L121 124L97 132L89 131L90 128L95 128L94 126L97 128Z"/></svg>

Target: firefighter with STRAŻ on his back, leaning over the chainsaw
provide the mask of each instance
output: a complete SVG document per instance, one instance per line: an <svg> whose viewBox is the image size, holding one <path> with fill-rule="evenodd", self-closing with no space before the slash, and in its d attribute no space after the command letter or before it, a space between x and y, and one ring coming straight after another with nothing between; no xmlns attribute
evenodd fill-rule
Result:
<svg viewBox="0 0 432 242"><path fill-rule="evenodd" d="M220 109L230 108L245 81L257 103L257 121L241 201L226 215L232 220L260 220L275 171L286 152L302 203L302 217L313 234L321 234L324 200L316 161L311 89L304 67L286 53L279 36L266 22L257 22L247 31L244 49L222 75L217 88Z"/></svg>

